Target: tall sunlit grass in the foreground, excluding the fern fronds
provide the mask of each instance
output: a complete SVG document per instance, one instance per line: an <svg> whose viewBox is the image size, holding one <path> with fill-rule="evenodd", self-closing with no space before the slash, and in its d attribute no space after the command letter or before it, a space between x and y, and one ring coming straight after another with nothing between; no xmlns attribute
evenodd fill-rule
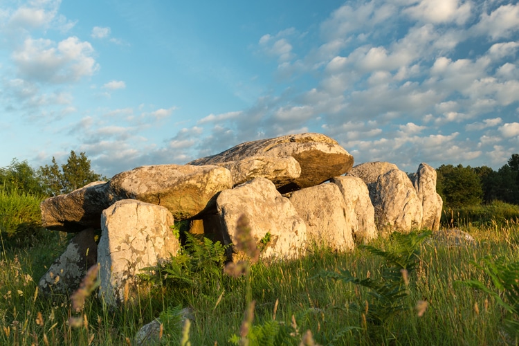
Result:
<svg viewBox="0 0 519 346"><path fill-rule="evenodd" d="M347 269L359 278L381 277L384 260L361 248L336 253L315 246L299 260L260 261L251 266L250 277L233 278L214 271L204 275L197 269L194 284L152 280L149 284L153 287L147 290L144 282L134 306L109 309L98 299L89 298L82 313L76 314L69 297L44 297L36 289L45 267L60 255L68 240L62 233L49 232L33 246L1 252L0 345L126 345L147 322L181 307L194 311L191 345L215 345L215 341L229 345L230 338L240 334L248 307L248 285L255 300L251 332L274 328L275 315L275 328L293 345L299 345L307 330L320 345L513 344L502 329L505 311L495 298L455 282L479 280L491 285L490 277L471 264L487 255L518 262L519 225L516 221L494 221L474 226L472 221L460 221L459 228L471 233L477 247L424 242L417 268L409 278L408 308L381 325L363 318L365 302L376 299L370 290L321 274ZM394 237L376 239L370 246L384 251L398 248ZM420 317L416 307L424 306L423 302L427 308ZM87 324L71 327L70 316ZM163 345L180 345L181 325L167 324L161 340Z"/></svg>

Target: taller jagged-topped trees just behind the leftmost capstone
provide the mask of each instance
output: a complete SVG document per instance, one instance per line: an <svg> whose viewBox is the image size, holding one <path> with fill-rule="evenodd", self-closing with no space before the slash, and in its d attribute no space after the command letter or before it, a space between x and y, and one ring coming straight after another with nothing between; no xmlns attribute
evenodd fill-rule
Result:
<svg viewBox="0 0 519 346"><path fill-rule="evenodd" d="M90 160L84 152L80 155L72 150L66 164L60 167L53 157L52 165L39 167L39 174L44 183L46 192L51 196L66 194L82 188L92 181L105 180L106 177L91 170Z"/></svg>

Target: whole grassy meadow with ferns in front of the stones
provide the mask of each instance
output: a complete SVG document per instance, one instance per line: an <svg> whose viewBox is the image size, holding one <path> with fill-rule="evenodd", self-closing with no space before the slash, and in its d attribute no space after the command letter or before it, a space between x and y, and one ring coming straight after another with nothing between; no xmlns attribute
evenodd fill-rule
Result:
<svg viewBox="0 0 519 346"><path fill-rule="evenodd" d="M2 229L32 222L34 210L12 221L16 203L0 194ZM179 259L143 272L136 302L111 309L93 291L79 311L71 297L37 289L71 236L4 232L0 345L136 345L159 317L156 345L517 345L518 206L448 210L442 227L476 244L416 230L347 253L313 244L298 260L246 265L245 275L228 275L224 248L192 237Z"/></svg>

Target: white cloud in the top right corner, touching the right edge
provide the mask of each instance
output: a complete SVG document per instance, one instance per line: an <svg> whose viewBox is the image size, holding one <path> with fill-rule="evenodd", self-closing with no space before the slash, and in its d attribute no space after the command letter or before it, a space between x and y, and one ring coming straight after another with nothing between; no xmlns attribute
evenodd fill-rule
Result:
<svg viewBox="0 0 519 346"><path fill-rule="evenodd" d="M507 38L519 30L519 4L502 5L490 14L482 13L479 23L473 27L478 35L491 39Z"/></svg>

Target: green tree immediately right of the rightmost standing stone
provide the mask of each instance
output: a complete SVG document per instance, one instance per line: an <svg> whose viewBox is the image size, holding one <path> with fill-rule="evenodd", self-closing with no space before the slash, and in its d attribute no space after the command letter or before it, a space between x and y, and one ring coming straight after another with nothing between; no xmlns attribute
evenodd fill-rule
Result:
<svg viewBox="0 0 519 346"><path fill-rule="evenodd" d="M437 191L444 200L444 206L449 208L475 206L482 202L483 197L480 177L471 166L438 167Z"/></svg>

